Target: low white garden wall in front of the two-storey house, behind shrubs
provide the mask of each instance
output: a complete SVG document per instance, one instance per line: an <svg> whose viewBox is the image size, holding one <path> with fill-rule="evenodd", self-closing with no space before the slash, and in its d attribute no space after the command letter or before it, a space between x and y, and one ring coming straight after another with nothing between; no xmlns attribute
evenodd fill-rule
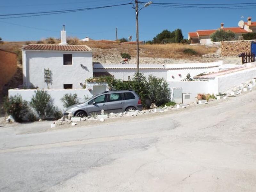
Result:
<svg viewBox="0 0 256 192"><path fill-rule="evenodd" d="M33 97L33 95L35 95L35 89L9 89L8 90L8 96L14 96L14 95L21 95L23 100L26 101L30 101ZM64 111L65 108L63 107L63 103L60 101L60 99L64 96L64 94L77 94L77 97L79 99L80 102L84 101L84 96L85 97L91 97L92 96L92 92L85 90L85 89L80 89L80 90L76 90L76 89L55 89L55 90L45 90L47 91L53 100L53 104L54 106L58 107L60 110Z"/></svg>

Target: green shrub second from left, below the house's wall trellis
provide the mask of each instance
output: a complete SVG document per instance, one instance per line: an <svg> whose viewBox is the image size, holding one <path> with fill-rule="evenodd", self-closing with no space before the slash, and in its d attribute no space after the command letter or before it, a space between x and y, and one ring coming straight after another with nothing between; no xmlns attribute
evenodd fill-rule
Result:
<svg viewBox="0 0 256 192"><path fill-rule="evenodd" d="M54 110L51 96L44 90L37 90L35 93L30 101L31 107L41 119L51 117Z"/></svg>

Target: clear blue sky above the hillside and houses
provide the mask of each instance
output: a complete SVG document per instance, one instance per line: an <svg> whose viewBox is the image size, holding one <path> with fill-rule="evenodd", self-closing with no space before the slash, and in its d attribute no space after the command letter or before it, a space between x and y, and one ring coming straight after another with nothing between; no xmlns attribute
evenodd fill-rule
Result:
<svg viewBox="0 0 256 192"><path fill-rule="evenodd" d="M131 0L8 0L1 2L0 14L87 8L129 2ZM153 2L256 3L256 1L252 0L153 0ZM140 40L151 40L163 29L174 30L180 28L183 36L187 38L190 31L216 29L220 27L221 22L224 23L224 27L237 27L241 16L244 16L243 20L251 16L252 21L256 21L256 8L184 9L158 7L152 4L140 11ZM132 39L135 40L135 11L132 9L132 5L38 17L0 19L0 37L4 41L40 40L50 36L59 38L62 24L66 25L67 36L76 36L78 38L89 36L92 39L115 40L117 27L118 38L127 38L132 35Z"/></svg>

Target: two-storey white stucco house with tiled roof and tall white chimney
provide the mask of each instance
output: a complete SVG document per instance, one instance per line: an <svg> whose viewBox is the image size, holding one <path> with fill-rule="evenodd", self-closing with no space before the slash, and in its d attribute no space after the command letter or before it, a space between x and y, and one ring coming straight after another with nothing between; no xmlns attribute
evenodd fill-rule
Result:
<svg viewBox="0 0 256 192"><path fill-rule="evenodd" d="M60 44L29 44L22 48L23 86L39 89L81 89L92 77L92 49L68 45L66 31Z"/></svg>

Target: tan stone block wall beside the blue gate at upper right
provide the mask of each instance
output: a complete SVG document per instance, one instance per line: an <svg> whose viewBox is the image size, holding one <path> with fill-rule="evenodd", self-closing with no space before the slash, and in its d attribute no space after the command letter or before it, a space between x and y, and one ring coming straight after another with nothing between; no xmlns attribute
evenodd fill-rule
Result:
<svg viewBox="0 0 256 192"><path fill-rule="evenodd" d="M251 41L221 42L221 56L237 56L243 52L251 52Z"/></svg>

